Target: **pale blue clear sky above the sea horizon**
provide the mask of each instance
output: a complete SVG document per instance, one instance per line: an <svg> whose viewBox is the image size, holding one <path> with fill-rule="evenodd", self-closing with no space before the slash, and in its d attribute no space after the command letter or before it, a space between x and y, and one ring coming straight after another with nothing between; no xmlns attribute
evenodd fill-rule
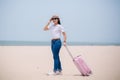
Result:
<svg viewBox="0 0 120 80"><path fill-rule="evenodd" d="M120 44L119 0L0 0L0 41L48 42L52 15L69 42Z"/></svg>

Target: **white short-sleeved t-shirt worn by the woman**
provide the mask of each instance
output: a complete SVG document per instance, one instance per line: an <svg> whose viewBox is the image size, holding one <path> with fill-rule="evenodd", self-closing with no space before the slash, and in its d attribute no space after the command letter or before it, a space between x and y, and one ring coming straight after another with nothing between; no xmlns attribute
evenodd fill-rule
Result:
<svg viewBox="0 0 120 80"><path fill-rule="evenodd" d="M49 28L49 30L51 32L52 39L60 38L61 33L65 32L64 27L59 25L59 24L58 25L50 25L50 26L48 26L48 28Z"/></svg>

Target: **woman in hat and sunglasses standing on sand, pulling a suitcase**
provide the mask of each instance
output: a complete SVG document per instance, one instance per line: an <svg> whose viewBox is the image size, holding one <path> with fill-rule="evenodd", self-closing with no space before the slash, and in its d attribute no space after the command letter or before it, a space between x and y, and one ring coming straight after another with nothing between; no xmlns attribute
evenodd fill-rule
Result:
<svg viewBox="0 0 120 80"><path fill-rule="evenodd" d="M53 22L53 25L50 25L50 23ZM52 39L51 39L51 50L53 53L53 59L54 59L54 69L53 72L48 73L48 75L60 75L62 72L61 67L61 61L59 58L59 52L61 49L61 33L64 38L64 45L66 45L66 33L64 31L64 28L62 27L60 23L60 18L56 15L52 16L52 18L49 20L47 25L44 27L44 30L50 30Z"/></svg>

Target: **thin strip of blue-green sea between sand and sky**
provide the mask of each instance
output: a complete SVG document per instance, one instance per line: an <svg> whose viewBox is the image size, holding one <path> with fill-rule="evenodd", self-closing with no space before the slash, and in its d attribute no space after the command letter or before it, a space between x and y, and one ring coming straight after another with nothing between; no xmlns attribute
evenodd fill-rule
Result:
<svg viewBox="0 0 120 80"><path fill-rule="evenodd" d="M0 46L50 46L51 42L45 42L45 41L0 41ZM101 42L67 42L68 45L71 46L86 46L86 45L102 45L102 46L110 46L110 45L115 45L115 46L120 46L120 43L114 43L114 42L106 42L106 43L101 43Z"/></svg>

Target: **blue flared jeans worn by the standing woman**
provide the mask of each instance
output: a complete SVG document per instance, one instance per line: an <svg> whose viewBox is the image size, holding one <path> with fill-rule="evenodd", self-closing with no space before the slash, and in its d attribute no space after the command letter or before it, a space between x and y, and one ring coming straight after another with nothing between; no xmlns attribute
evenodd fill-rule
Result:
<svg viewBox="0 0 120 80"><path fill-rule="evenodd" d="M61 40L60 39L51 41L51 49L52 49L53 59L54 59L54 69L53 69L54 72L62 71L61 61L60 61L60 57L59 57L60 48L61 48Z"/></svg>

